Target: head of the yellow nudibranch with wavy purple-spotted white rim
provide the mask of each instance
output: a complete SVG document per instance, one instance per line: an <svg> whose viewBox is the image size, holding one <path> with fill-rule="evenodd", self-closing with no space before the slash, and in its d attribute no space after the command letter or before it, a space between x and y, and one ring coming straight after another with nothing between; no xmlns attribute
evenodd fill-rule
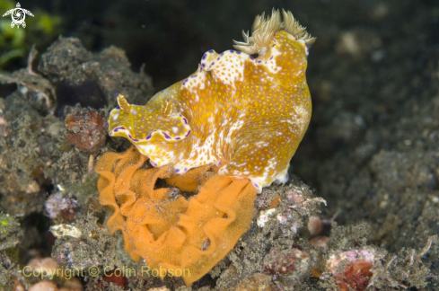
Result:
<svg viewBox="0 0 439 291"><path fill-rule="evenodd" d="M110 111L110 136L128 138L142 154L151 159L155 155L166 155L161 148L164 151L167 144L179 142L190 135L188 119L172 111L170 99L139 106L129 104L119 94L118 104L119 107ZM160 157L158 159L162 160Z"/></svg>

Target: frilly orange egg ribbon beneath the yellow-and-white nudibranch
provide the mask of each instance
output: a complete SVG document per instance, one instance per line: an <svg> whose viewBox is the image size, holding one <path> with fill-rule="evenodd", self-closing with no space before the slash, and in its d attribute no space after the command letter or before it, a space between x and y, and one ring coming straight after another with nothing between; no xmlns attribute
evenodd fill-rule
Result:
<svg viewBox="0 0 439 291"><path fill-rule="evenodd" d="M172 176L171 166L145 169L147 158L134 147L105 153L96 164L100 203L114 210L107 225L121 230L133 260L145 259L160 277L182 277L189 286L232 250L250 227L256 189L247 179L208 174L208 166ZM154 189L165 179L181 190L197 189L187 200Z"/></svg>

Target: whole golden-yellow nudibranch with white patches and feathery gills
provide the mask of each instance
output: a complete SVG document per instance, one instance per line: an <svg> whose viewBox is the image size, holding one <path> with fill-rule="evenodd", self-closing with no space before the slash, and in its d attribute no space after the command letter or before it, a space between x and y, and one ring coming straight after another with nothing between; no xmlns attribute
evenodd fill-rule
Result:
<svg viewBox="0 0 439 291"><path fill-rule="evenodd" d="M198 70L154 95L145 106L118 96L109 132L176 173L216 163L219 174L249 178L260 192L288 180L288 166L312 114L306 84L315 38L291 12L256 17L252 34L217 54L207 51ZM252 57L252 55L258 57Z"/></svg>

